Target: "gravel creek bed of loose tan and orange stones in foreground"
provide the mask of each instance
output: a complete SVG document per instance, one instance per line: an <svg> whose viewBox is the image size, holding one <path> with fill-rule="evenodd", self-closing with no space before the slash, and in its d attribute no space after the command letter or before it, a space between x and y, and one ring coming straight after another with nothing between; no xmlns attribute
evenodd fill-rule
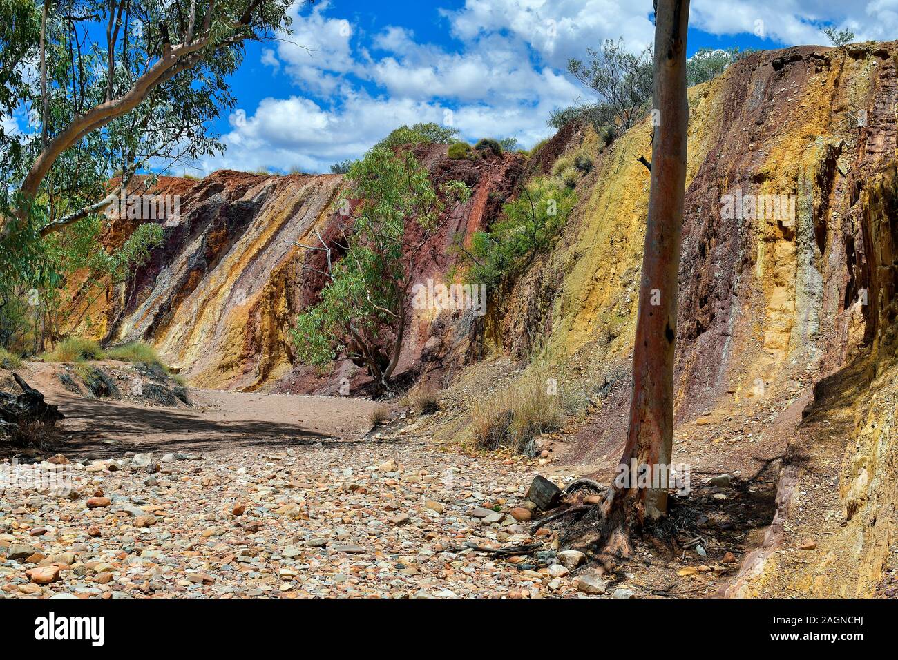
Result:
<svg viewBox="0 0 898 660"><path fill-rule="evenodd" d="M508 515L524 462L394 438L40 465L0 463L4 597L585 596L548 532L530 557L463 548L533 542Z"/></svg>

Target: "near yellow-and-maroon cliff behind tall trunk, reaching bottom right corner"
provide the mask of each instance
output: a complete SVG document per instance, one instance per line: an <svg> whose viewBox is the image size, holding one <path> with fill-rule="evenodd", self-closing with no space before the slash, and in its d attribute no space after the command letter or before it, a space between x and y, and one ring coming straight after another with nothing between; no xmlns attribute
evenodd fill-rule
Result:
<svg viewBox="0 0 898 660"><path fill-rule="evenodd" d="M789 48L690 90L678 427L694 433L702 411L777 420L786 452L806 461L799 490L841 460L841 512L817 527L831 534L823 559L778 572L774 556L740 594L872 594L895 562L896 60L895 43ZM650 133L647 120L598 155L558 248L490 317L507 350L524 355L524 328L539 328L605 383L576 462L616 462L626 433L649 180L637 158L650 157ZM556 139L573 149L591 138ZM737 194L788 196L794 216L726 214L722 199Z"/></svg>

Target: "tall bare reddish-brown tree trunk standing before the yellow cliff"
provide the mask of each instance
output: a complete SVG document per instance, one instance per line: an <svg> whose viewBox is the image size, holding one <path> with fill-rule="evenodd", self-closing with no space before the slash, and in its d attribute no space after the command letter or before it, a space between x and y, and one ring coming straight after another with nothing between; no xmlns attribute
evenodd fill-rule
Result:
<svg viewBox="0 0 898 660"><path fill-rule="evenodd" d="M646 469L649 483L656 483L651 479L657 465L670 464L674 444L677 276L689 119L686 100L688 23L689 0L657 0L651 190L633 348L629 431L621 457L623 465L635 464ZM666 471L656 479L665 474ZM662 480L662 488L638 488L636 477L630 471L625 499L635 504L640 522L665 515L666 480Z"/></svg>

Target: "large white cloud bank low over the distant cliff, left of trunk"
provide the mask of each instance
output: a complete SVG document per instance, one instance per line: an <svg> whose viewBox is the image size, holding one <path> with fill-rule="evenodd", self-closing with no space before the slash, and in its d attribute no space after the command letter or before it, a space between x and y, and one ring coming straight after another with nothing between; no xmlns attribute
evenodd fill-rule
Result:
<svg viewBox="0 0 898 660"><path fill-rule="evenodd" d="M328 102L297 95L264 99L252 113L235 110L223 136L228 149L201 163L205 171L327 172L392 128L421 121L451 123L470 140L515 136L532 145L550 134L553 108L584 95L565 75L534 66L529 47L514 36L481 34L453 53L390 26L364 48L353 41L357 29L327 9L322 3L309 13L293 10L294 35L277 51L263 51L262 63L281 67L304 92Z"/></svg>

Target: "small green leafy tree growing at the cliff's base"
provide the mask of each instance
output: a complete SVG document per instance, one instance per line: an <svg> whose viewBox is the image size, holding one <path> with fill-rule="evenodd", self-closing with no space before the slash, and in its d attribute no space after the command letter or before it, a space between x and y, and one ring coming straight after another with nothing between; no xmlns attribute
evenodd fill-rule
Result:
<svg viewBox="0 0 898 660"><path fill-rule="evenodd" d="M366 367L378 390L388 391L415 305L419 265L471 190L459 180L435 186L403 147L375 145L346 176L350 183L332 235L315 230L312 244L295 243L308 251L304 270L324 284L319 302L296 319L296 354L319 367L351 359Z"/></svg>

